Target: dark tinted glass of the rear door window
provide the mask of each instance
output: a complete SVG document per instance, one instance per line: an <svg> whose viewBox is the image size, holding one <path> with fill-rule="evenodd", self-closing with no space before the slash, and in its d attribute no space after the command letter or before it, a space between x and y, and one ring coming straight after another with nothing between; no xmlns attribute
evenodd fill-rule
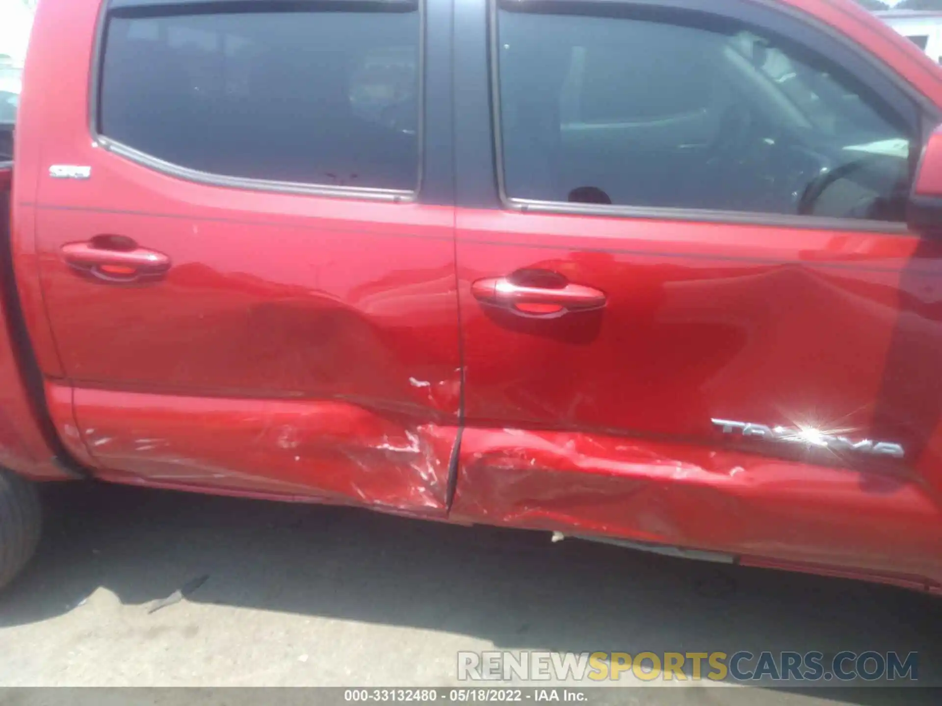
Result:
<svg viewBox="0 0 942 706"><path fill-rule="evenodd" d="M99 130L215 174L412 190L418 42L409 8L113 16Z"/></svg>

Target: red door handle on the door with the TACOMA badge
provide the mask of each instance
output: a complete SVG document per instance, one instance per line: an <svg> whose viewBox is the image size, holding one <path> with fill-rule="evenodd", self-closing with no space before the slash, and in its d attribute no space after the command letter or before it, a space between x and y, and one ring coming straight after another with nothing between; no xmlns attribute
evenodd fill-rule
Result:
<svg viewBox="0 0 942 706"><path fill-rule="evenodd" d="M532 287L514 284L506 277L475 281L471 284L471 294L485 304L537 316L591 312L604 308L606 302L604 292L583 284Z"/></svg>

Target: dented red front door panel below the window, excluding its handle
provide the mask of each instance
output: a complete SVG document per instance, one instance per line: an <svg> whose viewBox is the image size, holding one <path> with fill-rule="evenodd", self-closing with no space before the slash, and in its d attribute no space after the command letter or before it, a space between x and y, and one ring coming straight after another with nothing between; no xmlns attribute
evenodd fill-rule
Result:
<svg viewBox="0 0 942 706"><path fill-rule="evenodd" d="M457 237L456 518L942 580L939 244L472 209ZM605 308L472 291L532 270Z"/></svg>

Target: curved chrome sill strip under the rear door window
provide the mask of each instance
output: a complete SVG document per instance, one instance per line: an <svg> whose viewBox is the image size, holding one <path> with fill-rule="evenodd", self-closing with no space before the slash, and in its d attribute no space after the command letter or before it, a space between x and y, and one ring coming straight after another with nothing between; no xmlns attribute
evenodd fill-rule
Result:
<svg viewBox="0 0 942 706"><path fill-rule="evenodd" d="M133 147L128 147L122 142L110 139L106 136L95 136L92 143L95 147L100 147L108 152L113 152L119 156L136 162L139 165L154 169L168 176L184 179L187 182L204 184L210 186L220 186L224 188L248 189L250 191L270 191L282 194L299 194L302 196L325 196L344 199L364 199L368 201L391 201L394 203L405 203L415 201L416 191L414 189L382 189L369 188L365 186L333 186L321 184L306 184L303 182L277 182L268 179L252 179L250 177L235 177L216 174L209 171L201 171L188 167L167 162L158 157L154 157L147 152L140 152Z"/></svg>

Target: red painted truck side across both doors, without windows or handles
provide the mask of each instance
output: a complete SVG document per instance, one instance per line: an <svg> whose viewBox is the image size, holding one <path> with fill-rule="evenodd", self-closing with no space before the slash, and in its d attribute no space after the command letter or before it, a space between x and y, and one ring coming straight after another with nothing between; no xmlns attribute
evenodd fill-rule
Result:
<svg viewBox="0 0 942 706"><path fill-rule="evenodd" d="M932 62L850 0L788 4L942 106ZM100 477L942 583L942 246L190 184L92 147L97 5L39 10L13 244L54 422ZM46 178L52 155L93 179ZM66 263L63 246L103 234L171 269L123 284ZM474 296L520 270L605 306L540 298L523 316ZM711 417L813 424L907 457L776 458L730 447Z"/></svg>

